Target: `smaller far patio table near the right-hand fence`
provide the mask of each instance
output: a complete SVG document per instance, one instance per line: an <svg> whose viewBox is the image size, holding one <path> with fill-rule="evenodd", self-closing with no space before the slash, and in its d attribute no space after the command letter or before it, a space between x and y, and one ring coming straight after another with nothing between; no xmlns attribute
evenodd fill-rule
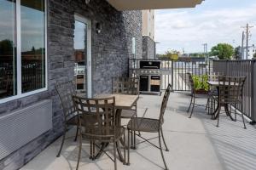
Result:
<svg viewBox="0 0 256 170"><path fill-rule="evenodd" d="M236 84L235 82L230 82L230 83L225 83L224 84L224 82L218 82L218 81L207 81L207 83L210 85L210 86L212 86L213 88L217 88L217 90L219 91L219 85L221 85L221 86L237 86L238 84ZM219 94L219 93L218 93ZM218 96L219 97L219 96ZM227 116L230 116L230 119L232 120L232 121L234 121L234 118L231 116L231 113L230 113L230 111L229 111L229 105L224 105L224 110L225 110L225 112L226 112L226 115ZM212 113L212 115L213 115L213 119L217 119L217 117L218 117L218 106L217 106L217 108L216 108L216 110L215 111L213 111L213 113Z"/></svg>

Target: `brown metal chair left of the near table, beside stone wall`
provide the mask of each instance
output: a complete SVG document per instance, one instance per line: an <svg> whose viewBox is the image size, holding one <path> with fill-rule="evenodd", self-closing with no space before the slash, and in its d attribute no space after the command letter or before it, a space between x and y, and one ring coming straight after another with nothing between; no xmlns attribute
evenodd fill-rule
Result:
<svg viewBox="0 0 256 170"><path fill-rule="evenodd" d="M73 99L72 99L72 96L77 94L74 88L73 82L68 81L68 82L57 83L55 84L55 89L61 99L61 106L62 106L63 116L64 116L64 122L63 122L64 133L61 141L61 148L57 154L57 157L59 157L61 154L61 150L65 141L65 138L66 138L68 126L77 126L75 141L77 140L78 131L79 131L79 126L78 126L79 120L78 120L78 114L75 106L73 105Z"/></svg>

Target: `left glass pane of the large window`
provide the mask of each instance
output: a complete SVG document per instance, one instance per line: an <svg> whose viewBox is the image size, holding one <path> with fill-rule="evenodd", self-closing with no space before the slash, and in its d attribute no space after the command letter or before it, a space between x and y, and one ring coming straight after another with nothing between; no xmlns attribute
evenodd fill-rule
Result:
<svg viewBox="0 0 256 170"><path fill-rule="evenodd" d="M16 94L15 0L0 1L0 99Z"/></svg>

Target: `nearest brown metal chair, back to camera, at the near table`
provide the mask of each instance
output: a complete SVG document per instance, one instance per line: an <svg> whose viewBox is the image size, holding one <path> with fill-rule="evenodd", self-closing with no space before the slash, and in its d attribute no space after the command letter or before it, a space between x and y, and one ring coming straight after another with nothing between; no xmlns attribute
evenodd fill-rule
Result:
<svg viewBox="0 0 256 170"><path fill-rule="evenodd" d="M113 158L105 153L114 162L114 169L116 170L117 142L123 137L125 140L125 127L120 127L117 123L120 117L116 117L115 114L115 98L85 99L73 96L73 102L79 115L81 115L79 116L79 159L76 169L79 169L82 139L84 138L90 140L92 146L92 148L90 147L90 155L92 157L95 157L96 141L113 143ZM95 122L90 120L95 120Z"/></svg>

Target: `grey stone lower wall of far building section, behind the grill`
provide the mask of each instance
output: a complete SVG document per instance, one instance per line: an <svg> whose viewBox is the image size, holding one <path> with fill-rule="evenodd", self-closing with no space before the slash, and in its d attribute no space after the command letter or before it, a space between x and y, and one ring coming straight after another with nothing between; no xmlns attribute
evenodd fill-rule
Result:
<svg viewBox="0 0 256 170"><path fill-rule="evenodd" d="M154 40L143 36L143 59L154 59Z"/></svg>

